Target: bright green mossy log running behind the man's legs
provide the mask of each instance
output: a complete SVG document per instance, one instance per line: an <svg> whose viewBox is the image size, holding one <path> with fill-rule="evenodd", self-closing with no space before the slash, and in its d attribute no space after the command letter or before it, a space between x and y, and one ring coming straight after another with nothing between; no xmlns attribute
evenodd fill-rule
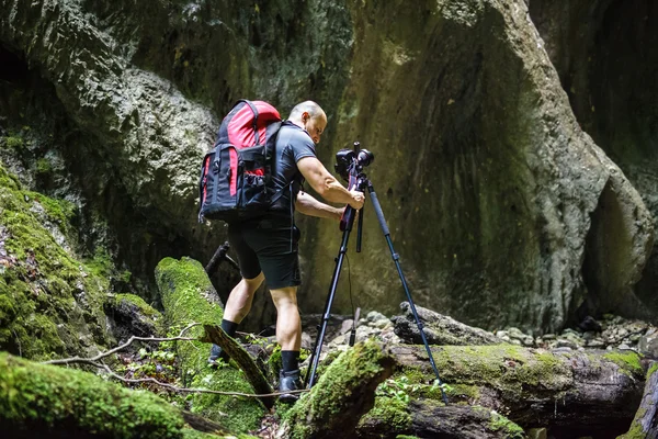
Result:
<svg viewBox="0 0 658 439"><path fill-rule="evenodd" d="M181 328L195 322L208 325L222 322L222 303L200 262L190 258L164 258L156 268L156 282L162 296L170 333L178 334ZM191 337L202 338L203 335L202 327L191 330ZM208 368L208 344L184 341L178 345L177 350L185 385L222 392L253 393L241 371L230 367L217 370ZM227 430L239 432L256 429L265 413L259 399L243 396L194 394L191 406L193 413L217 421Z"/></svg>

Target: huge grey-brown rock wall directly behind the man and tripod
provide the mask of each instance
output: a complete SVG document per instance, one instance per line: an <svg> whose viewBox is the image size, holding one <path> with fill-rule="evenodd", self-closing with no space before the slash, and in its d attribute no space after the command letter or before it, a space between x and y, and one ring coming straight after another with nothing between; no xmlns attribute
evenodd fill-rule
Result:
<svg viewBox="0 0 658 439"><path fill-rule="evenodd" d="M107 184L158 235L123 237L133 261L173 241L204 260L223 241L222 227L194 223L196 168L235 99L284 114L315 99L329 114L318 148L329 168L354 140L375 154L367 173L419 304L542 331L576 318L590 290L611 304L633 296L653 246L649 212L578 125L523 1L0 5L1 44L54 85L98 146L93 159L113 170ZM352 294L394 312L397 272L365 215ZM340 234L329 222L300 226L299 301L317 312ZM347 280L336 312L350 308Z"/></svg>

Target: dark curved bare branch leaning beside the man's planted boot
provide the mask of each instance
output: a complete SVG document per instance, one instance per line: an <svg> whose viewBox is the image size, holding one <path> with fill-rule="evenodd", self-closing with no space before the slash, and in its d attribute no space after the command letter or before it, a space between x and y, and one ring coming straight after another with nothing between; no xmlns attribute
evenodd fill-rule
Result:
<svg viewBox="0 0 658 439"><path fill-rule="evenodd" d="M249 352L247 352L240 344L229 337L220 327L214 325L203 325L205 335L201 338L201 341L208 341L218 345L224 349L226 353L245 372L245 376L251 383L251 386L256 393L262 394L260 397L263 405L269 409L274 406L272 386L258 368L258 365L251 359Z"/></svg>

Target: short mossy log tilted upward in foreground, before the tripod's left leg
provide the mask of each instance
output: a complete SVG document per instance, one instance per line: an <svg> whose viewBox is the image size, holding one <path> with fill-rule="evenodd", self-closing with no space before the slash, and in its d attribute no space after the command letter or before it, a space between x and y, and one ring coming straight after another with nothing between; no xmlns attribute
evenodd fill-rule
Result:
<svg viewBox="0 0 658 439"><path fill-rule="evenodd" d="M377 342L358 344L338 357L286 414L277 437L349 437L373 406L375 389L394 368L393 357Z"/></svg>

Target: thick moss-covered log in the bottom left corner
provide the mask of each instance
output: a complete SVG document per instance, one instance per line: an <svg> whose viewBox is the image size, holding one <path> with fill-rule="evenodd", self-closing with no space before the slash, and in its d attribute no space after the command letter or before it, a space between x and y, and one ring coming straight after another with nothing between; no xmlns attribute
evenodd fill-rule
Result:
<svg viewBox="0 0 658 439"><path fill-rule="evenodd" d="M0 424L10 436L72 430L80 436L175 439L182 437L184 423L151 393L0 353Z"/></svg>

